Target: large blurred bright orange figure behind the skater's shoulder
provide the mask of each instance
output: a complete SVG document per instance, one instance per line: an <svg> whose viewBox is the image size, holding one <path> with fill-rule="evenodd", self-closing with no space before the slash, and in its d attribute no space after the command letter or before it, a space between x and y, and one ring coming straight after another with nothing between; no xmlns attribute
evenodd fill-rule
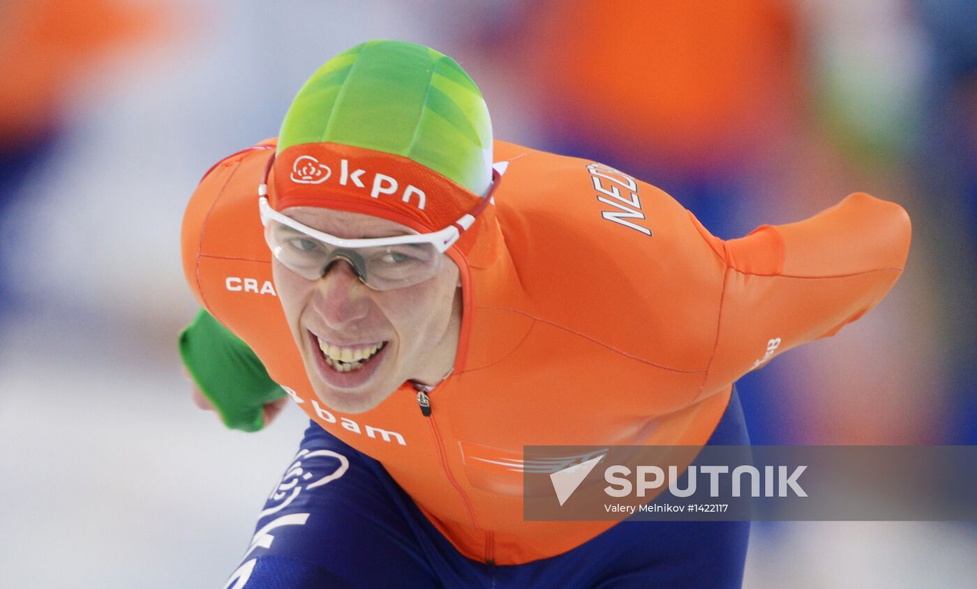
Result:
<svg viewBox="0 0 977 589"><path fill-rule="evenodd" d="M728 236L795 116L798 23L777 0L553 2L522 49L548 142L658 182Z"/></svg>

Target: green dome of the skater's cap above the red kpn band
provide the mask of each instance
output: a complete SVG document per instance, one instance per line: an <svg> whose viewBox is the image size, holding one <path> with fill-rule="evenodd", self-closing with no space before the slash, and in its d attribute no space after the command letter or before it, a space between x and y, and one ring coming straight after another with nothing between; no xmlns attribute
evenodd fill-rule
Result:
<svg viewBox="0 0 977 589"><path fill-rule="evenodd" d="M292 100L277 152L333 142L401 155L483 195L488 107L458 63L423 45L367 41L326 61Z"/></svg>

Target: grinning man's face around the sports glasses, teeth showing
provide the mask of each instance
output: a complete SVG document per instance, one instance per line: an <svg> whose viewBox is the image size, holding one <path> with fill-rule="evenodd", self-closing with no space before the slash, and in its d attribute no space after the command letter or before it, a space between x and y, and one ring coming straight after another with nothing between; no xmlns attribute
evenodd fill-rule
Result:
<svg viewBox="0 0 977 589"><path fill-rule="evenodd" d="M282 211L343 238L416 233L394 221L316 207ZM338 412L365 412L405 380L437 382L451 369L461 325L458 267L445 260L425 282L374 291L336 259L319 280L273 256L275 286L316 394ZM359 360L358 360L359 359Z"/></svg>

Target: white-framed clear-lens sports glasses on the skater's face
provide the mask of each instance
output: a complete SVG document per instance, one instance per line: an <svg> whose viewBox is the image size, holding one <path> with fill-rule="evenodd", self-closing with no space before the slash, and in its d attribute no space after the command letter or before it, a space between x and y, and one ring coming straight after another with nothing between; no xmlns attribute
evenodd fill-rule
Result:
<svg viewBox="0 0 977 589"><path fill-rule="evenodd" d="M411 233L392 237L346 239L330 235L278 213L268 202L268 177L275 153L265 166L258 185L258 209L272 254L292 272L307 280L319 280L333 261L348 262L361 282L377 291L401 289L437 275L447 262L445 252L475 219L494 204L493 193L501 174L492 168L488 194L471 211L450 225L431 233Z"/></svg>

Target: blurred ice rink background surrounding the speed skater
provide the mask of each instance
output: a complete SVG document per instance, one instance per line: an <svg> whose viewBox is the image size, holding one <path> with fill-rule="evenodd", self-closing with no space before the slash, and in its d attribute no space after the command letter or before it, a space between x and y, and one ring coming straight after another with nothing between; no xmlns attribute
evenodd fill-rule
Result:
<svg viewBox="0 0 977 589"><path fill-rule="evenodd" d="M306 420L230 432L175 338L184 206L363 40L457 59L495 135L604 161L724 238L863 190L893 292L740 381L758 444L977 444L977 3L8 0L0 587L221 587ZM744 587L972 587L972 524L754 524Z"/></svg>

